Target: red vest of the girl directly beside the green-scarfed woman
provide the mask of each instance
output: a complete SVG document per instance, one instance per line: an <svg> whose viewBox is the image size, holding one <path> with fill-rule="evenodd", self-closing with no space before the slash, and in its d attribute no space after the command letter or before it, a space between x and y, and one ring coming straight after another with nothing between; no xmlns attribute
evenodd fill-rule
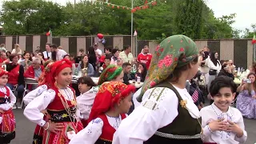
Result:
<svg viewBox="0 0 256 144"><path fill-rule="evenodd" d="M109 121L106 118L106 114L102 114L98 116L98 118L101 118L103 121L103 127L102 127L102 135L99 137L99 139L106 141L106 142L112 142L114 132L116 131L114 127L110 126ZM121 114L121 118L126 118L126 114Z"/></svg>

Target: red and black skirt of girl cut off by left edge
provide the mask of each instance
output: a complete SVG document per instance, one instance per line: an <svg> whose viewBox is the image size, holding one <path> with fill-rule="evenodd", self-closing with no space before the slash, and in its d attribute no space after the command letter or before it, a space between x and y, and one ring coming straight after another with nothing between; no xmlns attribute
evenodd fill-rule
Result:
<svg viewBox="0 0 256 144"><path fill-rule="evenodd" d="M15 138L16 122L14 113L12 110L6 110L3 114L0 114L0 116L2 117L2 123L0 124L0 142L10 143L10 141Z"/></svg>

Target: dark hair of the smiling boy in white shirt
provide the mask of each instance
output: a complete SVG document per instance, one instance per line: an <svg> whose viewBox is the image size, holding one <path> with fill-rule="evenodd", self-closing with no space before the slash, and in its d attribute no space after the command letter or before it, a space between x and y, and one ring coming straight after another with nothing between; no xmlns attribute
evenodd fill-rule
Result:
<svg viewBox="0 0 256 144"><path fill-rule="evenodd" d="M214 97L223 87L229 87L232 93L236 92L234 80L227 76L219 76L210 82L210 95Z"/></svg>

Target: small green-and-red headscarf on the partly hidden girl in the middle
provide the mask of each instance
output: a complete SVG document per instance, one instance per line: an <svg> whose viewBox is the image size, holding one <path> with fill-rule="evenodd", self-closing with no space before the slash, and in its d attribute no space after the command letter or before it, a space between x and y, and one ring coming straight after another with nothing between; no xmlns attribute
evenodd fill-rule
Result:
<svg viewBox="0 0 256 144"><path fill-rule="evenodd" d="M110 65L103 70L102 74L98 79L98 85L102 85L103 82L110 82L122 73L122 67Z"/></svg>

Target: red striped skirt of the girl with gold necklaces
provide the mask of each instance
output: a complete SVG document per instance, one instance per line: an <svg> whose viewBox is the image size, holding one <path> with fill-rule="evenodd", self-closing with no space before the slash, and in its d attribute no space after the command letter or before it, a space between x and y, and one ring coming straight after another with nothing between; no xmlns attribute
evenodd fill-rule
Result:
<svg viewBox="0 0 256 144"><path fill-rule="evenodd" d="M70 142L70 139L67 136L67 132L74 130L75 134L78 134L78 132L83 129L82 122L58 123L63 124L63 130L59 131L58 134L54 134L48 130L45 130L42 138L42 144L68 144Z"/></svg>

